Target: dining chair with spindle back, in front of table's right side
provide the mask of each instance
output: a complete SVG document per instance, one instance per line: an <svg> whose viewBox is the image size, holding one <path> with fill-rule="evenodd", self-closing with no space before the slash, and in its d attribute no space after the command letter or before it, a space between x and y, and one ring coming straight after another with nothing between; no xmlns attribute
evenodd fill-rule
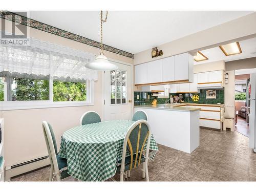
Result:
<svg viewBox="0 0 256 192"><path fill-rule="evenodd" d="M146 120L138 120L131 125L123 142L122 159L118 162L121 164L117 167L117 172L120 173L120 181L123 181L124 175L126 178L127 171L138 167L140 164L142 164L142 177L146 177L146 181L150 180L147 169L150 139L151 129ZM144 153L145 144L146 151ZM130 156L125 157L127 151Z"/></svg>

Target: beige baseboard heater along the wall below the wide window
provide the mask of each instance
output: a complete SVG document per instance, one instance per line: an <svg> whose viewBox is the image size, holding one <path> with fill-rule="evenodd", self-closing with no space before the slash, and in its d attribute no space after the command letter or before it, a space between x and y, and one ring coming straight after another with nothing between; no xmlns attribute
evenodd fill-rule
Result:
<svg viewBox="0 0 256 192"><path fill-rule="evenodd" d="M22 175L32 170L50 165L49 156L40 157L16 165L5 167L5 181L10 181L12 177Z"/></svg>

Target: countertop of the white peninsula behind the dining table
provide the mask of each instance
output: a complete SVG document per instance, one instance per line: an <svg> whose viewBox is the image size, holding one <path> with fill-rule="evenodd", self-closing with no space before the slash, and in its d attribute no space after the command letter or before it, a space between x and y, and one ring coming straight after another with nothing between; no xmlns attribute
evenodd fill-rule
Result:
<svg viewBox="0 0 256 192"><path fill-rule="evenodd" d="M146 108L146 109L156 109L156 110L170 110L170 111L183 111L183 112L194 112L199 111L200 108L187 107L187 104L147 104L147 105L135 105L134 108Z"/></svg>

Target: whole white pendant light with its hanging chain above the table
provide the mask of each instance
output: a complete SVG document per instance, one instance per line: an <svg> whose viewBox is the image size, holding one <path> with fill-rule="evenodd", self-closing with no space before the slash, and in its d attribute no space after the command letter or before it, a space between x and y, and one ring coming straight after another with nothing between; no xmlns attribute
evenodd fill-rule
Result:
<svg viewBox="0 0 256 192"><path fill-rule="evenodd" d="M95 58L93 62L89 62L86 64L86 67L88 69L93 69L97 71L110 71L110 70L117 70L118 67L111 63L108 58L103 54L102 48L102 23L106 22L106 19L108 18L108 11L106 11L106 17L103 20L102 19L102 11L100 11L100 54Z"/></svg>

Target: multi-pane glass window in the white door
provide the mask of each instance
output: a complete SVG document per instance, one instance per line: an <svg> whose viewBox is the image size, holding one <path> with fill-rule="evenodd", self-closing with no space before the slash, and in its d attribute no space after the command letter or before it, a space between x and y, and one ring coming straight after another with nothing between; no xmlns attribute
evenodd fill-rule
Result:
<svg viewBox="0 0 256 192"><path fill-rule="evenodd" d="M126 103L126 71L111 71L111 104Z"/></svg>

